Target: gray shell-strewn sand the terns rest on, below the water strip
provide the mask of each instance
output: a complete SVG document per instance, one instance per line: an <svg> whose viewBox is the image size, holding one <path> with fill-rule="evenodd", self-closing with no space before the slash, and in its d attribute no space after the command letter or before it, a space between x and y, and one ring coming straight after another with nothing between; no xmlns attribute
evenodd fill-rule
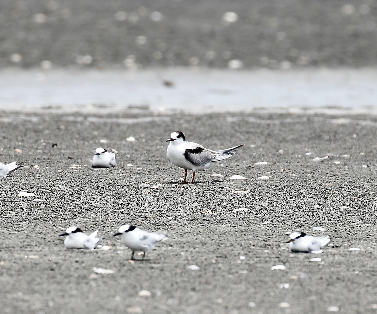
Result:
<svg viewBox="0 0 377 314"><path fill-rule="evenodd" d="M2 116L9 119L0 125L1 161L30 166L1 180L3 313L375 311L377 118ZM194 185L176 185L183 171L167 160L165 143L176 129L208 148L245 146L198 172ZM136 141L127 142L129 136ZM90 168L99 146L118 151L115 169ZM268 164L255 165L261 161ZM248 179L230 180L233 174ZM257 179L263 175L271 179ZM18 198L22 189L44 201ZM169 239L145 261L129 263L130 250L112 237L125 223L169 231ZM100 229L101 244L112 248L65 250L58 234L70 225ZM313 232L316 226L326 231ZM285 241L294 230L330 234L333 241L320 255L291 254ZM322 262L309 262L313 257ZM270 270L279 264L286 269ZM93 267L115 272L94 274ZM289 287L280 288L284 283ZM139 297L141 290L152 296Z"/></svg>

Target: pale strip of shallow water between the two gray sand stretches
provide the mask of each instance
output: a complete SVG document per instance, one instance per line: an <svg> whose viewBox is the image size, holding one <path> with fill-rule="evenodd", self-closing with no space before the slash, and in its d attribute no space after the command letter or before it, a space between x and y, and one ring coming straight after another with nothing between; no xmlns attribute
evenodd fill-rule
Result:
<svg viewBox="0 0 377 314"><path fill-rule="evenodd" d="M161 113L377 105L375 69L2 70L0 109ZM172 86L167 86L172 85Z"/></svg>

